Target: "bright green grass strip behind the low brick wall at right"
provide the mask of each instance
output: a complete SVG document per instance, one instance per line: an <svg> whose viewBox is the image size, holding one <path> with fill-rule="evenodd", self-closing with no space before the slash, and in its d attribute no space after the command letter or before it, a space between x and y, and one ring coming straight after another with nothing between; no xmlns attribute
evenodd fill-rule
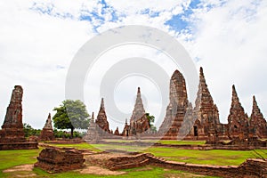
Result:
<svg viewBox="0 0 267 178"><path fill-rule="evenodd" d="M177 150L150 147L144 152L150 152L156 157L166 158L166 160L221 166L239 166L247 158L258 158L253 150ZM267 150L257 150L257 152L267 158Z"/></svg>

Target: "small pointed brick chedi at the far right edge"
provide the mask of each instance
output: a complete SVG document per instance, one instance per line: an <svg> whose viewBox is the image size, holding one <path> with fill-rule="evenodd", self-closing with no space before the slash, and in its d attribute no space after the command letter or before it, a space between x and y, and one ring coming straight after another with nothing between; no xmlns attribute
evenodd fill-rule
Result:
<svg viewBox="0 0 267 178"><path fill-rule="evenodd" d="M261 139L267 137L266 120L263 117L263 113L258 107L257 101L255 100L255 96L253 96L253 107L249 120L249 127L249 131L257 137Z"/></svg>

